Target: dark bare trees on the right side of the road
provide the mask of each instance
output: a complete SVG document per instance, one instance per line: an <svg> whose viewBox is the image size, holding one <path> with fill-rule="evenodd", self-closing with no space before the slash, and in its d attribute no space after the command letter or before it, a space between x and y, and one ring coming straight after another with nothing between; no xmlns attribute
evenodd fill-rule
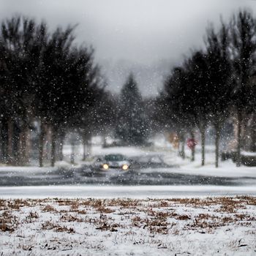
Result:
<svg viewBox="0 0 256 256"><path fill-rule="evenodd" d="M171 70L156 100L155 118L160 125L169 124L176 130L183 145L185 135L193 138L198 129L202 165L206 128L214 127L216 167L220 132L225 121L232 118L237 136L236 162L241 165L242 146L256 151L256 20L251 12L240 10L229 23L221 20L218 30L208 26L204 42L203 49L192 50L181 66ZM249 126L247 145L242 137L242 128L246 126ZM193 154L192 151L192 159Z"/></svg>

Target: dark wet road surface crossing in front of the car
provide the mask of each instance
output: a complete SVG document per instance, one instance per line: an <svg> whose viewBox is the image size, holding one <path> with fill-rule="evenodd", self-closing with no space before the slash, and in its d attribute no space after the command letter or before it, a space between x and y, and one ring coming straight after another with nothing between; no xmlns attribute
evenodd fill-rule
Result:
<svg viewBox="0 0 256 256"><path fill-rule="evenodd" d="M214 185L214 186L253 186L252 177L215 177L176 173L177 167L162 171L151 168L137 170L91 170L88 166L57 170L1 171L0 187L47 186L47 185Z"/></svg>

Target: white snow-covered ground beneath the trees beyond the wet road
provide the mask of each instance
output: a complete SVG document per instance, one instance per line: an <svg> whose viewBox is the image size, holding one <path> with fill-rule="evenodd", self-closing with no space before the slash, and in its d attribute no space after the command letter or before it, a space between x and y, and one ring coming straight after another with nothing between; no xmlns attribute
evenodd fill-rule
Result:
<svg viewBox="0 0 256 256"><path fill-rule="evenodd" d="M200 147L197 146L196 154L195 154L195 162L190 162L191 151L186 146L186 159L181 159L178 157L178 151L173 149L170 146L170 143L167 143L165 140L160 140L158 143L155 142L155 146L148 148L139 148L139 147L108 147L102 148L101 145L93 145L91 147L91 157L97 155L104 154L124 154L126 157L139 157L151 154L159 154L162 155L165 162L169 165L176 165L178 168L175 169L176 173L187 173L187 174L195 174L195 175L207 175L207 176L219 176L219 177L254 177L256 178L256 167L236 167L236 165L231 161L227 160L225 162L219 162L219 168L214 167L214 148L209 145L206 146L206 164L202 167L200 165ZM56 170L58 167L75 167L78 168L81 165L88 164L92 158L86 162L81 161L83 155L83 147L81 145L76 146L75 148L75 165L70 164L70 154L71 154L71 146L64 146L64 161L56 162L56 167L50 167L49 163L46 163L46 167L37 167L37 166L26 166L26 167L10 167L10 166L0 166L1 171L10 171L10 172L18 172L18 171L42 171L45 172L49 170ZM249 153L246 152L248 155ZM255 155L255 153L251 153ZM162 169L161 169L162 170ZM159 171L161 171L159 170ZM150 172L151 170L143 170L145 172Z"/></svg>

